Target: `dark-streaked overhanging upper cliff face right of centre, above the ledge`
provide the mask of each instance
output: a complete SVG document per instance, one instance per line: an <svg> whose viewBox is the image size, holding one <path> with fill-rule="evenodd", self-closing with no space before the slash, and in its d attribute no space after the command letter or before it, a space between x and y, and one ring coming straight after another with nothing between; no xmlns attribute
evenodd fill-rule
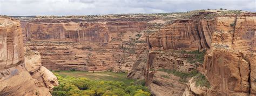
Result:
<svg viewBox="0 0 256 96"><path fill-rule="evenodd" d="M214 21L207 19L176 20L150 37L151 46L164 50L196 50L211 47Z"/></svg>

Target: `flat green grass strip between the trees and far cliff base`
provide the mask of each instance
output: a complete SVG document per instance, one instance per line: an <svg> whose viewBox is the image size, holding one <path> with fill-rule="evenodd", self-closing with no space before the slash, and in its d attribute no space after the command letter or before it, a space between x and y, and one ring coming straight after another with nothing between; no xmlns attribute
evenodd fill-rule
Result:
<svg viewBox="0 0 256 96"><path fill-rule="evenodd" d="M52 73L57 73L60 76L72 76L72 77L85 77L93 80L113 80L113 81L123 81L125 84L129 85L134 79L127 78L126 73L114 73L110 71L105 72L86 72L86 71L52 71Z"/></svg>

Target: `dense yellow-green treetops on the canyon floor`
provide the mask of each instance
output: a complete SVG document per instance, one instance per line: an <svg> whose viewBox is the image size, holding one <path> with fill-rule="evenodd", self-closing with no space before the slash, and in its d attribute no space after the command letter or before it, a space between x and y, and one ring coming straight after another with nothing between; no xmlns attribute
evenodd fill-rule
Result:
<svg viewBox="0 0 256 96"><path fill-rule="evenodd" d="M140 84L126 85L122 81L90 80L87 78L62 77L55 74L59 86L53 88L52 95L146 95L149 90Z"/></svg>

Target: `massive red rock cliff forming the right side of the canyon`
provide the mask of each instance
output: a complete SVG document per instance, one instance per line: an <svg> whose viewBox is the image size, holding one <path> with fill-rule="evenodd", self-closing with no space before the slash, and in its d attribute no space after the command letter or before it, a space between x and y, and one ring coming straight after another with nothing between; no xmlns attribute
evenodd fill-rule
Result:
<svg viewBox="0 0 256 96"><path fill-rule="evenodd" d="M184 67L185 69L196 68L194 64L183 59L184 56L185 58L193 57L177 54L175 50L208 49L204 63L203 65L199 64L198 70L205 74L212 88L205 93L193 93L255 95L255 13L220 15L212 19L207 19L206 16L205 18L194 18L198 17L194 16L190 19L174 20L149 36L148 47L151 49L149 53L156 54L154 57L156 62L150 63L150 65L145 64L147 69L144 70L146 73L143 75L154 94L181 95L180 93L182 93L175 91L178 85L183 84L176 84L175 80L177 79L175 78L177 77L161 73L157 69L165 68L184 72L186 71ZM157 52L155 52L156 50ZM172 54L166 55L168 53ZM147 60L148 63L149 61L151 60ZM161 61L164 63L160 63ZM165 64L166 62L170 63ZM170 78L161 77L163 74ZM168 83L165 83L166 80L171 80L169 82L174 86L170 87ZM170 91L159 90L159 88ZM179 89L185 90L185 87Z"/></svg>

